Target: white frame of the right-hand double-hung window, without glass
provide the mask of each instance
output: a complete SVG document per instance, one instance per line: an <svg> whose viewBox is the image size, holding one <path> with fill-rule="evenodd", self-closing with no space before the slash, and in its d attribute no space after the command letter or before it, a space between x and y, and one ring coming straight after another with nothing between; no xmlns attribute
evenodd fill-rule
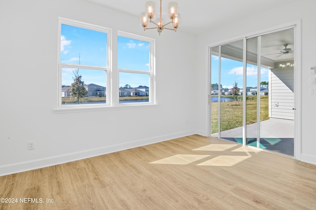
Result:
<svg viewBox="0 0 316 210"><path fill-rule="evenodd" d="M143 104L155 104L156 101L156 79L155 79L155 39L140 36L140 35L134 35L127 32L118 31L118 36L123 36L126 38L132 38L137 39L140 41L149 42L149 70L129 70L129 69L120 69L118 68L118 81L119 81L119 73L120 72L126 72L126 73L139 73L139 74L148 74L149 75L149 101L148 102L131 102L131 103L119 103L119 97L118 97L118 105L119 106L130 106L130 105L143 105ZM119 87L116 89L119 91ZM114 91L115 92L115 91ZM118 94L117 94L118 95Z"/></svg>

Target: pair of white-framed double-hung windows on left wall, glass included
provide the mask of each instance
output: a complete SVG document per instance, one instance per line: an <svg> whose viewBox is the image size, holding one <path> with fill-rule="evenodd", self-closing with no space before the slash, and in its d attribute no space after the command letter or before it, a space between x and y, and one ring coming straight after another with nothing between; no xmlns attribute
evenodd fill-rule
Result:
<svg viewBox="0 0 316 210"><path fill-rule="evenodd" d="M59 19L57 109L155 103L154 39L118 32L118 66L112 69L111 34Z"/></svg>

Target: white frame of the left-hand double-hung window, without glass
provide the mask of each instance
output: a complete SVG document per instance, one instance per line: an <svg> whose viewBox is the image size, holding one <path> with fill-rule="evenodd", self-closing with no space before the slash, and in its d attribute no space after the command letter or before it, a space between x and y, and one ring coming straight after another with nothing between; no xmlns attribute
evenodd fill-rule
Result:
<svg viewBox="0 0 316 210"><path fill-rule="evenodd" d="M102 33L107 34L107 65L106 67L96 67L96 66L88 66L88 65L75 65L75 64L66 64L66 63L61 63L60 61L60 41L61 41L61 25L70 25L74 27L79 27L83 29L88 29L88 30L93 30L93 31L98 31ZM110 99L111 99L111 77L112 77L112 30L109 28L93 25L93 24L88 24L80 21L75 21L75 20L70 20L66 18L59 18L58 20L58 99L57 99L57 109L69 109L69 108L78 108L78 107L103 107L103 106L109 106L111 105ZM62 88L62 68L75 68L75 69L88 69L88 70L104 70L106 71L107 75L107 87L106 87L106 92L107 92L107 98L106 98L106 104L80 104L80 105L62 105L61 99L62 99L62 93L61 93L61 88Z"/></svg>

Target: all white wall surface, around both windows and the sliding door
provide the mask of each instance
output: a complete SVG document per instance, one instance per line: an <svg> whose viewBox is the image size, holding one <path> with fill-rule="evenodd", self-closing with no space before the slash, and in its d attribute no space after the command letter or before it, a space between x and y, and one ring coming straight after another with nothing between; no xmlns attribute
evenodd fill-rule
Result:
<svg viewBox="0 0 316 210"><path fill-rule="evenodd" d="M144 32L138 17L83 0L1 1L0 175L195 133L207 136L207 46L300 20L300 159L316 164L316 95L309 95L308 84L309 69L316 66L314 4L301 0L247 19L236 17L197 36L181 29L158 36ZM112 28L114 66L118 30L156 38L158 105L56 114L58 17ZM89 121L103 133L84 132L92 130ZM28 150L28 141L35 141L36 149Z"/></svg>

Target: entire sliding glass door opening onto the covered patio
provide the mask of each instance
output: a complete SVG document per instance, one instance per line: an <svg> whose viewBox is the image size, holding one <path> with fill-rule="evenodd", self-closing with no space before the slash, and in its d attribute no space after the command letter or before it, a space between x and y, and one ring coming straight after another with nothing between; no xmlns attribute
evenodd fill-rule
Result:
<svg viewBox="0 0 316 210"><path fill-rule="evenodd" d="M293 52L293 28L210 48L210 136L294 155Z"/></svg>

